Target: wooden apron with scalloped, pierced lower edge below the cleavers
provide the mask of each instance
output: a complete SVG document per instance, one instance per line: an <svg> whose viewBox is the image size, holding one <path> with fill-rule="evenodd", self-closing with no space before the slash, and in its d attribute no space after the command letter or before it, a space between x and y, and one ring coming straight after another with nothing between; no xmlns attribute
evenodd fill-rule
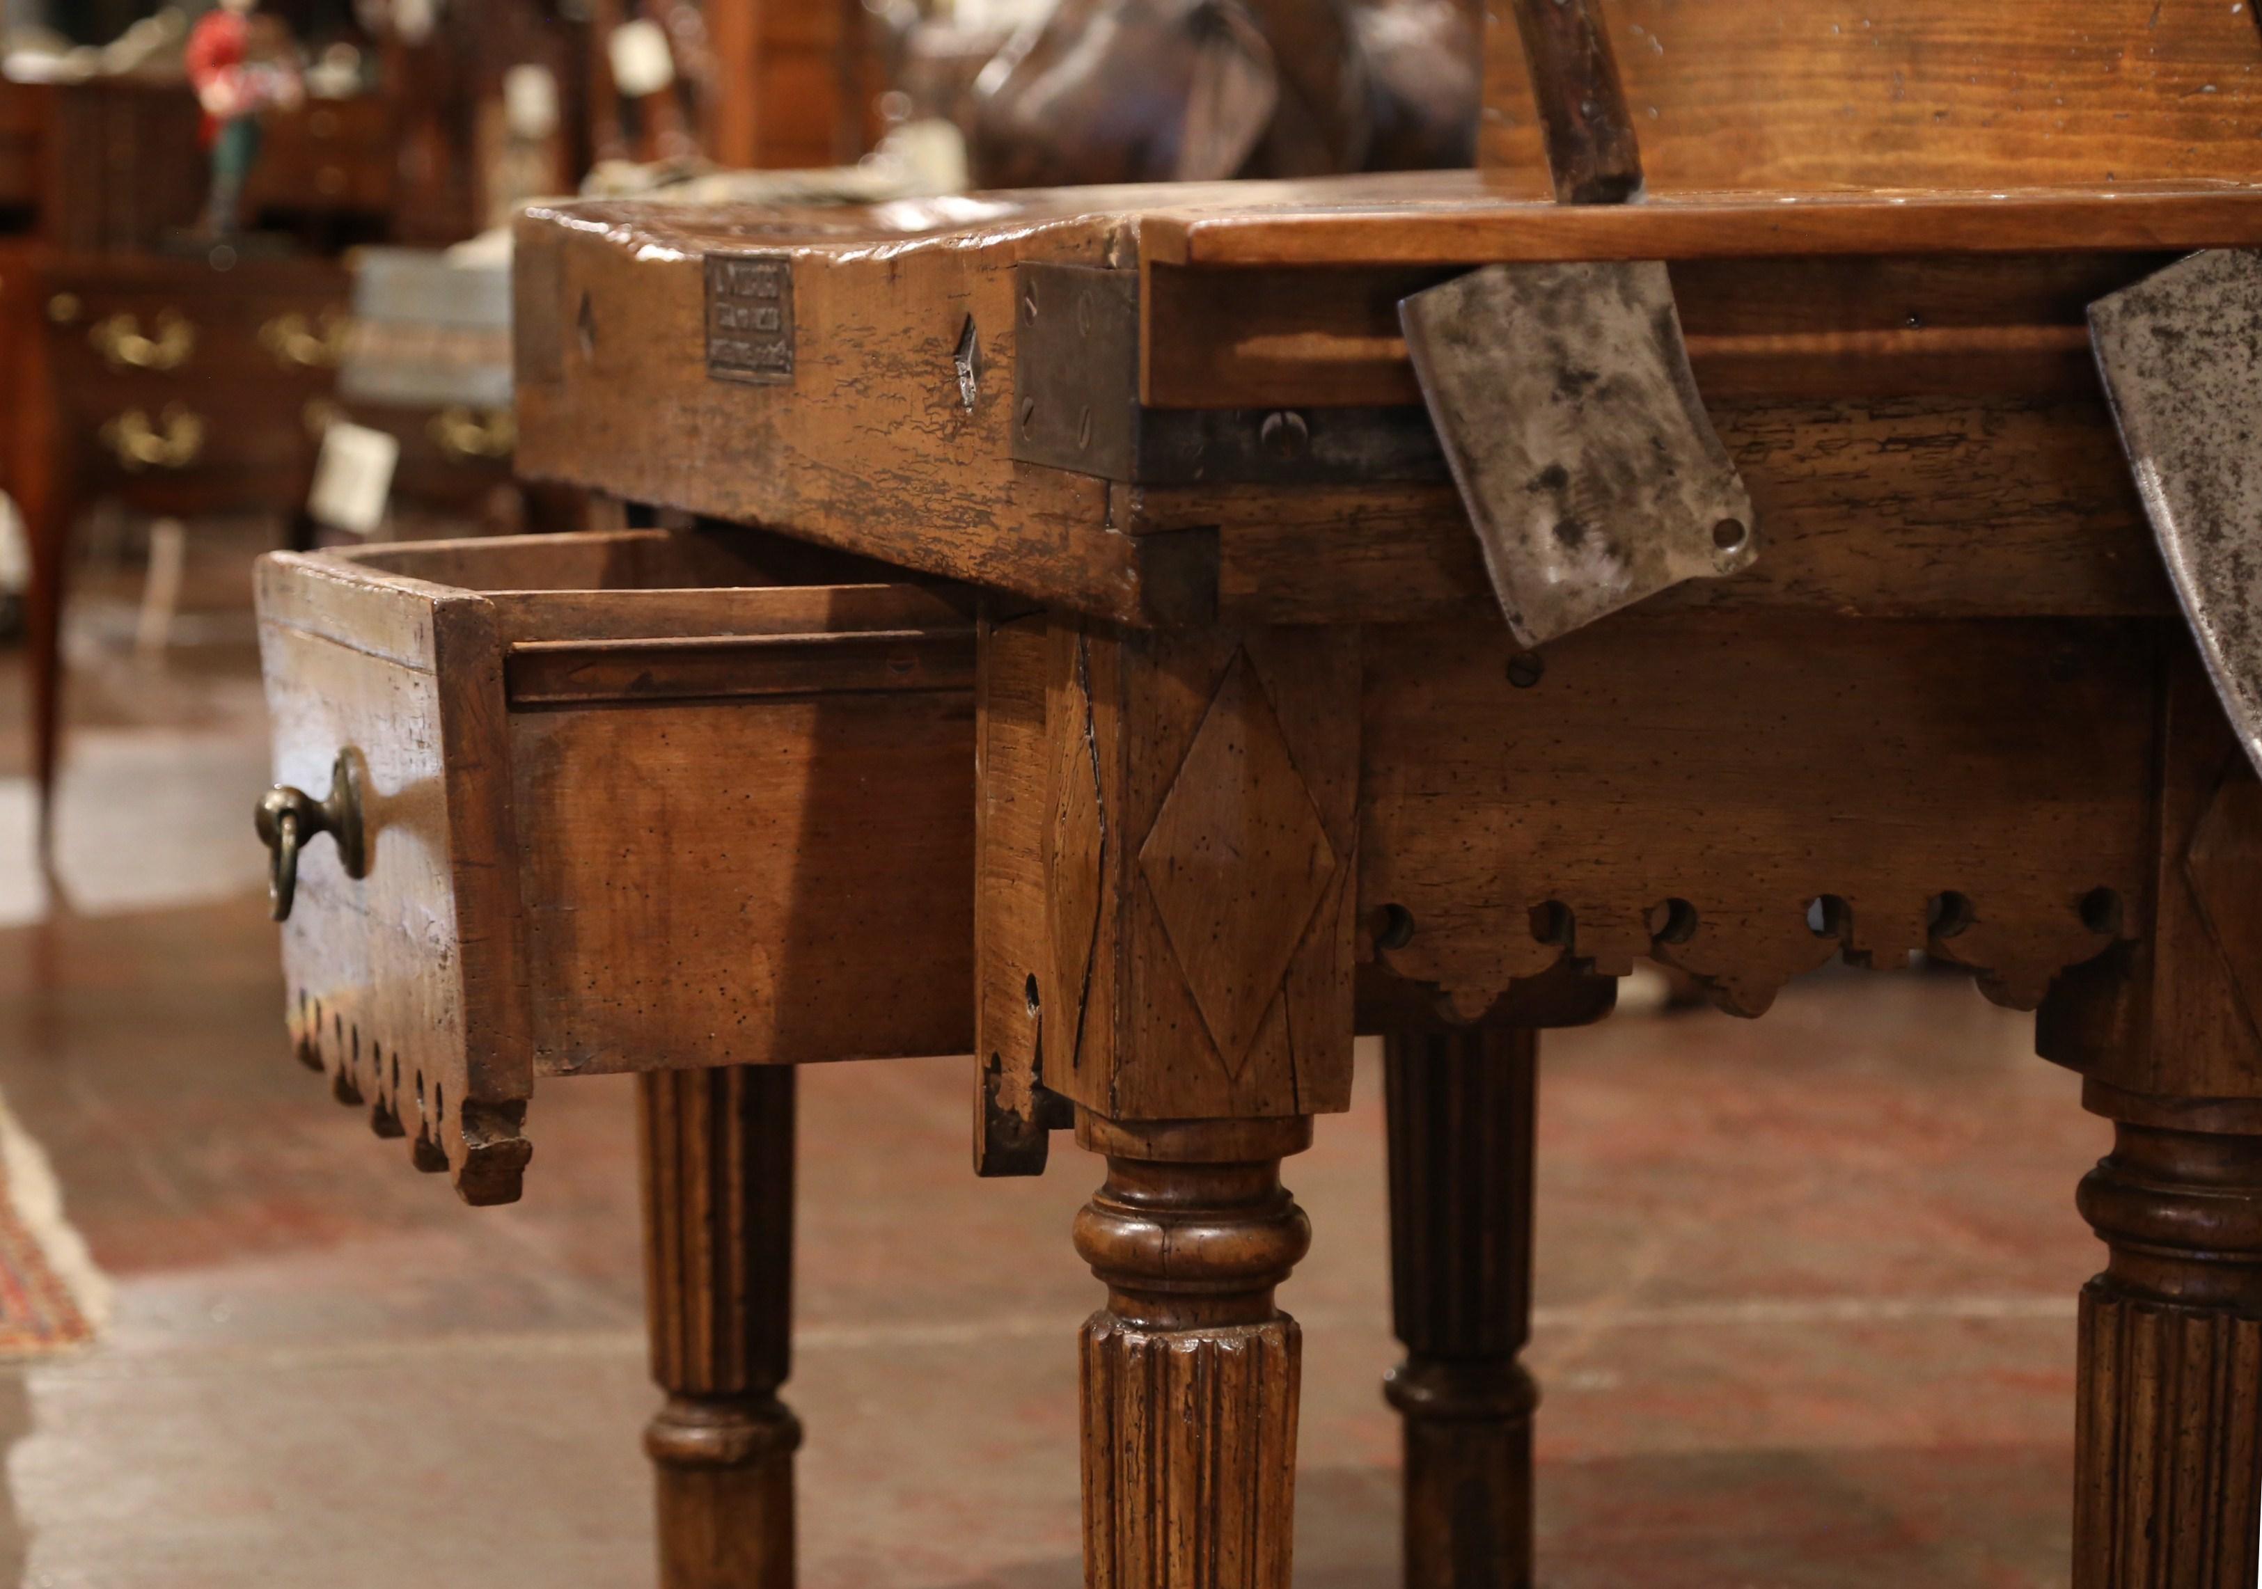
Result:
<svg viewBox="0 0 2262 1589"><path fill-rule="evenodd" d="M1755 1015L1846 954L2034 1008L2151 909L2144 624L1620 615L1366 635L1364 922L1466 1017L1561 956ZM2095 897L2092 897L2095 895Z"/></svg>

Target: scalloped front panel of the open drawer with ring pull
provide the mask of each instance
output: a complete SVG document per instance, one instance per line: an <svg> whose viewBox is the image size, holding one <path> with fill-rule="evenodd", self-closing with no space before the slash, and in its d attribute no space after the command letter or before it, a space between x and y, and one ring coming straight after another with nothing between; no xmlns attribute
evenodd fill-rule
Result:
<svg viewBox="0 0 2262 1589"><path fill-rule="evenodd" d="M507 1202L532 1069L493 610L271 558L260 662L276 780L319 798L351 757L362 787L362 875L312 839L283 922L299 1056L421 1169Z"/></svg>

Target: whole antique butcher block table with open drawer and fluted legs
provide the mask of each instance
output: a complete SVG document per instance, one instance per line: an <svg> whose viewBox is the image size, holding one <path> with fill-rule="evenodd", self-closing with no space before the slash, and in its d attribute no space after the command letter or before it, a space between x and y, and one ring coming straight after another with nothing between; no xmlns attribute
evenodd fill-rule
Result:
<svg viewBox="0 0 2262 1589"><path fill-rule="evenodd" d="M2142 18L2072 9L2115 93L2183 104ZM2208 113L2253 127L2244 72ZM1911 170L1975 138L1911 127ZM1280 1160L1387 1033L1407 1571L1493 1589L1531 1571L1531 1033L1638 956L1760 1015L1830 956L1925 952L2036 1008L2117 1126L2079 1196L2110 1259L2077 1582L2251 1584L2262 784L2083 310L2262 244L2262 188L2138 145L2047 192L525 217L520 463L665 513L274 558L308 796L269 830L348 830L296 863L301 1053L468 1200L518 1196L536 1078L645 1074L665 1580L792 1580L796 1062L973 1051L979 1169L1070 1123L1104 1155L1088 1582L1283 1589ZM1760 554L1531 653L1396 305L1549 260L1669 262Z"/></svg>

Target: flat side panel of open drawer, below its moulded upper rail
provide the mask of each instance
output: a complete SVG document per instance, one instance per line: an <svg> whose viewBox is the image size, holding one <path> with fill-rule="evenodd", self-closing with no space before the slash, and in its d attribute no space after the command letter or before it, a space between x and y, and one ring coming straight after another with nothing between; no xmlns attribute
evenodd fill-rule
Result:
<svg viewBox="0 0 2262 1589"><path fill-rule="evenodd" d="M964 1053L973 694L513 712L536 1074Z"/></svg>

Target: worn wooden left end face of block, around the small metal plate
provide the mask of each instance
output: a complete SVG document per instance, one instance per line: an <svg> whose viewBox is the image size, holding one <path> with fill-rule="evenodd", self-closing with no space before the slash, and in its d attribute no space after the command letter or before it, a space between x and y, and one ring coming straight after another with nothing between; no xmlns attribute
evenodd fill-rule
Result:
<svg viewBox="0 0 2262 1589"><path fill-rule="evenodd" d="M568 224L572 222L572 224ZM661 217L651 222L667 231ZM1020 253L1102 264L1104 219L1070 219L988 249L803 246L794 253L798 364L792 384L708 380L701 251L774 251L731 233L647 242L538 212L518 314L568 328L559 380L520 384L520 468L794 536L884 552L905 567L1154 617L1199 601L1169 547L1142 552L1104 524L1102 481L1004 466L1013 271ZM835 226L837 231L837 226ZM627 246L622 246L627 244ZM554 283L554 301L534 285ZM984 398L966 409L952 353L975 325ZM688 466L713 459L715 468ZM948 481L948 488L946 488ZM1009 533L1000 529L1009 527ZM882 547L875 531L887 533Z"/></svg>

